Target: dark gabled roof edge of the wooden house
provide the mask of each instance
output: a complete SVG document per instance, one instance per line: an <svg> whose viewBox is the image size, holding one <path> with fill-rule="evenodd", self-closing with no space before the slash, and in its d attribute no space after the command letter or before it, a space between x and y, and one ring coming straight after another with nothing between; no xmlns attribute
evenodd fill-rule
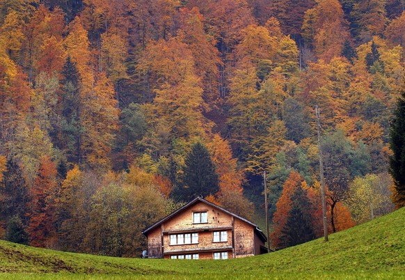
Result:
<svg viewBox="0 0 405 280"><path fill-rule="evenodd" d="M254 224L251 221L248 221L247 219L240 217L239 215L236 215L235 213L232 213L228 210L226 210L225 208L222 208L219 205L216 205L214 203L211 203L205 199L202 199L200 196L197 196L195 199L193 199L192 201L190 201L189 203L187 203L186 205L183 205L182 207L180 207L179 209L175 210L175 212L172 212L171 214L167 215L166 217L164 217L163 219L157 221L156 223L152 224L152 226L148 227L145 229L145 231L143 231L143 235L148 235L149 231L152 231L152 229L156 228L157 226L160 226L161 224L163 224L165 221L168 221L169 219L175 217L175 215L177 215L178 213L182 212L183 210L185 210L186 208L189 208L191 205L194 205L198 202L202 202L205 203L207 205L212 206L212 208L216 208L217 210L221 210L222 212L225 212L237 219L240 219L241 221L246 222L247 224L250 224L251 226L253 226L253 228L255 228L255 233L260 237L260 239L263 242L267 242L267 237L266 235L264 235L264 233L260 230L260 228L257 226L257 224Z"/></svg>

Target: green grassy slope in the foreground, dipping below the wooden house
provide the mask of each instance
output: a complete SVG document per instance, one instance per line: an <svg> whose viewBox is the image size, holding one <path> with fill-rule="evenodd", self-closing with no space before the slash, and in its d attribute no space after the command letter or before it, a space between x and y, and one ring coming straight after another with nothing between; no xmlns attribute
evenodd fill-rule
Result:
<svg viewBox="0 0 405 280"><path fill-rule="evenodd" d="M232 260L111 258L0 241L0 279L405 279L404 226L402 208L330 242Z"/></svg>

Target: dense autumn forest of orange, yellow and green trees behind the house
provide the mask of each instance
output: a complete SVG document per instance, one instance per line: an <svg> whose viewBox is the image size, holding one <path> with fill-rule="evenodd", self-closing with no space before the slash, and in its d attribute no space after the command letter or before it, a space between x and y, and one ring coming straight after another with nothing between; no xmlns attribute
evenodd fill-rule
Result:
<svg viewBox="0 0 405 280"><path fill-rule="evenodd" d="M143 229L197 195L262 229L268 207L271 249L317 238L316 106L328 231L394 210L404 10L0 0L0 238L141 256Z"/></svg>

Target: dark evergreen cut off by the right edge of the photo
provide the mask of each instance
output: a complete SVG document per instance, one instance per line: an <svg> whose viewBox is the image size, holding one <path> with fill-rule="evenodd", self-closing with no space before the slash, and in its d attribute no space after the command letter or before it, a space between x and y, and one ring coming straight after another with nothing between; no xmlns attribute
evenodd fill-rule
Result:
<svg viewBox="0 0 405 280"><path fill-rule="evenodd" d="M394 203L397 207L405 205L405 91L397 102L397 109L390 129L390 173L394 179Z"/></svg>

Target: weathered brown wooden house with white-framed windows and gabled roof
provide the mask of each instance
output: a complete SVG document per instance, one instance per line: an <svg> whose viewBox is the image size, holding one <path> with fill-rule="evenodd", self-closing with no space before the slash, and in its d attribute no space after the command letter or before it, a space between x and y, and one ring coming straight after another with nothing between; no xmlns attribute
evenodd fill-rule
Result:
<svg viewBox="0 0 405 280"><path fill-rule="evenodd" d="M149 258L225 259L267 252L256 224L197 197L146 228Z"/></svg>

